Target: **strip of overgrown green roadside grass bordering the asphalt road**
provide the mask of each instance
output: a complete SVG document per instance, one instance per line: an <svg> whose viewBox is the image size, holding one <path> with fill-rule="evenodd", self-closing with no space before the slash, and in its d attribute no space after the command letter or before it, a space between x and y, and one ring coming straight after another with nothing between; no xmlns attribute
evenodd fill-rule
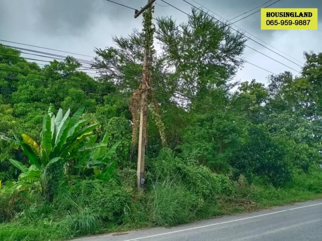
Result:
<svg viewBox="0 0 322 241"><path fill-rule="evenodd" d="M131 229L175 226L198 219L258 211L299 201L322 199L321 181L320 170L313 170L310 174L294 174L293 181L283 188L275 188L261 179L254 179L253 183L249 184L241 176L235 182L232 195L218 195L213 202L203 200L187 190L184 184L169 178L154 182L146 193L132 196L131 203L126 202L126 194L119 193L113 186L110 186L111 191L104 189L105 196L110 195L110 198L104 203L91 206L80 206L79 200L68 203L69 199L63 199L62 196L59 199L62 205L57 208L41 203L37 198L25 199L25 196L15 194L14 201L10 202L12 207L6 202L0 202L0 216L7 217L7 220L0 224L0 240L66 240ZM96 191L88 192L88 186L94 187ZM97 203L97 196L93 195L102 191L100 186L88 183L83 188L79 198ZM87 192L89 194L85 195ZM113 197L124 199L124 208L120 211L119 207L115 206L114 213L122 214L118 219L107 219L104 213L99 211L106 209L106 206L99 205L109 205L106 202ZM31 201L33 203L28 204ZM10 213L5 211L8 205ZM30 207L29 210L26 209L27 206ZM110 210L105 212L109 213Z"/></svg>

